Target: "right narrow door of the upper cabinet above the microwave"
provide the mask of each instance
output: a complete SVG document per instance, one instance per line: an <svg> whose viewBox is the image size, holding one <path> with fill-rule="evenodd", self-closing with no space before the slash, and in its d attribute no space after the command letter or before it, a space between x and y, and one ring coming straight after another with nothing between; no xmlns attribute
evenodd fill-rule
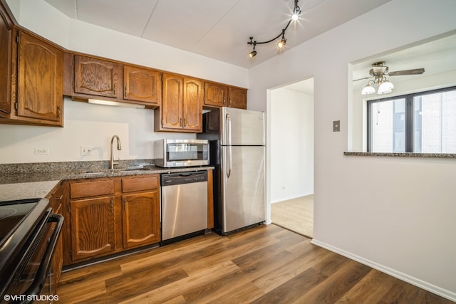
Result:
<svg viewBox="0 0 456 304"><path fill-rule="evenodd" d="M184 129L202 132L202 82L184 78Z"/></svg>

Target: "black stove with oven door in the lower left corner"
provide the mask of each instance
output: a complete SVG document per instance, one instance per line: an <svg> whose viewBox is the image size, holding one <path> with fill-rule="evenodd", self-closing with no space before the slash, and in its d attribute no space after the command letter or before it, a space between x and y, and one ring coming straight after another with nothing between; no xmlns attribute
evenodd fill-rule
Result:
<svg viewBox="0 0 456 304"><path fill-rule="evenodd" d="M48 280L63 217L48 199L0 201L0 302L33 303ZM9 298L9 300L5 300ZM27 298L11 298L27 297ZM10 302L11 301L11 302Z"/></svg>

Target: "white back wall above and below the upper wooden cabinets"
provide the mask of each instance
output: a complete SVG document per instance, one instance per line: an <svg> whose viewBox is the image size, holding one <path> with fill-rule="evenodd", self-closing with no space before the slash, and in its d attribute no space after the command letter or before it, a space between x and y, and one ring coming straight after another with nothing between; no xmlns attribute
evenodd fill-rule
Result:
<svg viewBox="0 0 456 304"><path fill-rule="evenodd" d="M182 73L220 83L248 87L248 70L197 56L124 33L68 19L43 0L9 0L21 26L64 48L118 61ZM117 134L123 150L120 159L153 158L152 141L160 138L194 138L187 133L154 132L153 111L88 105L65 99L65 127L0 125L0 163L65 162L110 158L110 138ZM93 146L81 157L81 145ZM48 148L36 155L34 148Z"/></svg>

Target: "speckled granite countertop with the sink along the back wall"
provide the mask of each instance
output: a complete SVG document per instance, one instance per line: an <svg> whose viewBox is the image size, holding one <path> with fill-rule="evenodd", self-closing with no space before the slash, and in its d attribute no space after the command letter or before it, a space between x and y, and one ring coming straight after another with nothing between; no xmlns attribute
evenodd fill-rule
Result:
<svg viewBox="0 0 456 304"><path fill-rule="evenodd" d="M62 180L95 177L123 177L157 173L191 172L214 169L211 166L161 168L149 160L120 161L111 170L108 161L0 164L0 201L40 199Z"/></svg>

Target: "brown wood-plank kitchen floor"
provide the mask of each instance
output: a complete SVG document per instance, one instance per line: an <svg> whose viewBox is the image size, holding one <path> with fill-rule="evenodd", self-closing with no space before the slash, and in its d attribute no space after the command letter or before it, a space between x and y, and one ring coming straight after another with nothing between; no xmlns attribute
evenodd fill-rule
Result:
<svg viewBox="0 0 456 304"><path fill-rule="evenodd" d="M452 303L274 224L63 273L58 303Z"/></svg>

